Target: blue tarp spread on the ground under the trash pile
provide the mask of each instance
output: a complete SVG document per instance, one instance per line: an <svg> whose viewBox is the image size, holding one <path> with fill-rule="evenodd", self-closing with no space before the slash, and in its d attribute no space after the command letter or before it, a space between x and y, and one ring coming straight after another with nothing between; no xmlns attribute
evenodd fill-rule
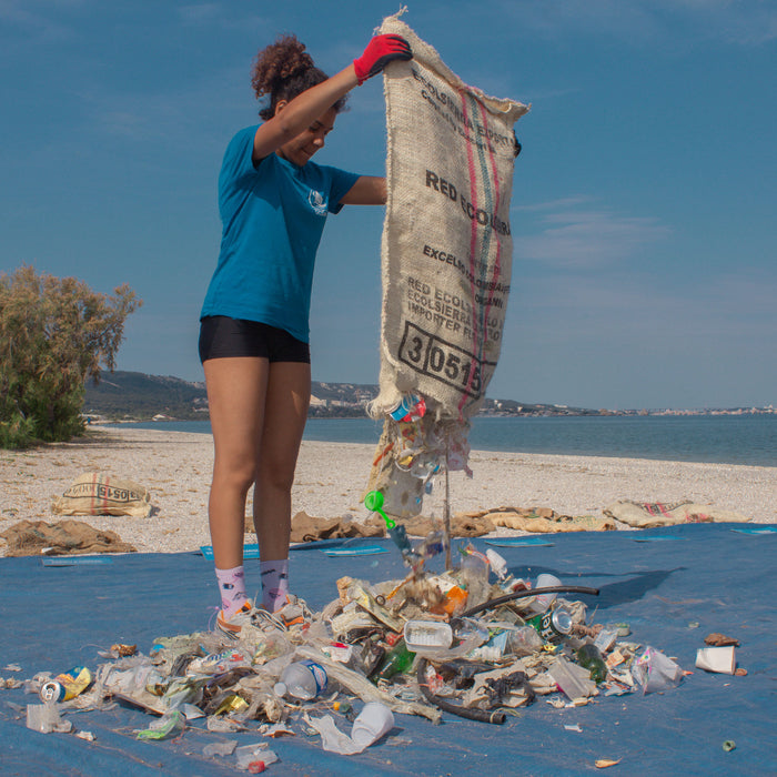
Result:
<svg viewBox="0 0 777 777"><path fill-rule="evenodd" d="M281 761L268 771L340 777L583 775L598 773L595 760L607 758L620 759L607 770L613 775L777 774L777 532L737 531L741 528L703 524L556 534L544 538L549 545L495 548L516 576L547 572L567 584L598 587L598 597L579 597L593 619L627 622L630 639L692 669L679 687L663 694L599 696L569 709L555 709L541 697L503 726L450 714L435 726L396 715L386 738L350 757L325 753L319 737L273 739L271 748ZM321 609L336 597L335 581L343 575L370 582L404 575L394 546L384 543L389 553L383 555L330 557L319 549L294 551L294 593ZM474 544L487 547L484 539ZM148 653L157 637L203 630L212 619L212 562L200 554L75 557L63 563L0 558L0 676L57 674L81 664L95 668L103 662L98 650L114 643L138 644ZM259 586L258 561L246 562L246 578L249 586ZM747 676L695 669L696 650L710 632L740 640L737 660ZM11 663L22 672L2 668ZM0 690L3 775L226 775L235 771L234 758L206 758L203 747L261 739L258 734L212 734L203 720L193 720L178 740L139 741L133 730L147 728L151 718L129 706L68 714L77 729L95 735L90 743L28 729L18 708L29 703L38 703L37 697L21 689ZM565 729L575 725L579 733ZM724 740L734 740L736 749L724 751Z"/></svg>

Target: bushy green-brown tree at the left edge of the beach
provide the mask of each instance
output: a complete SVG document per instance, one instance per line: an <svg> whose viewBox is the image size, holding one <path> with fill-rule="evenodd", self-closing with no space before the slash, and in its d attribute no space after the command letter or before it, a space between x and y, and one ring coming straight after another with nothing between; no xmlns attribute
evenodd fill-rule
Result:
<svg viewBox="0 0 777 777"><path fill-rule="evenodd" d="M83 433L84 382L115 366L127 316L142 304L22 265L0 274L0 447Z"/></svg>

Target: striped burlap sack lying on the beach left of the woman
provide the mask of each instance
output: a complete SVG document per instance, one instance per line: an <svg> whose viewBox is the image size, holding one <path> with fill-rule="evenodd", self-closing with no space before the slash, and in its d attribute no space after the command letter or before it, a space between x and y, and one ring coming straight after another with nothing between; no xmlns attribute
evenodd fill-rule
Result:
<svg viewBox="0 0 777 777"><path fill-rule="evenodd" d="M51 505L57 515L151 515L151 494L131 481L120 481L99 472L79 475Z"/></svg>

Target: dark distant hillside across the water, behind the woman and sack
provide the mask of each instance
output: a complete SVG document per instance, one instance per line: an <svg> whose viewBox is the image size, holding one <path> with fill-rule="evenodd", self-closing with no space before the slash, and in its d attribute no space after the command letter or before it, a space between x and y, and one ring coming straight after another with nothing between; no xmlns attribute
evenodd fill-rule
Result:
<svg viewBox="0 0 777 777"><path fill-rule="evenodd" d="M364 417L366 403L377 396L377 385L359 383L312 384L309 415ZM112 421L206 420L208 395L203 382L142 372L103 373L100 383L87 382L83 412ZM485 415L596 415L597 411L562 405L524 404L515 400L486 398Z"/></svg>

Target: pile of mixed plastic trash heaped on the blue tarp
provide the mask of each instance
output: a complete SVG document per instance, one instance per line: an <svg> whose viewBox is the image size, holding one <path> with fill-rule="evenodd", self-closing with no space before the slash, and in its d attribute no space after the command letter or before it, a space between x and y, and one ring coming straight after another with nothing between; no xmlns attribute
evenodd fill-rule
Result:
<svg viewBox="0 0 777 777"><path fill-rule="evenodd" d="M317 733L325 749L350 755L386 735L394 714L500 724L541 697L563 708L679 683L677 664L630 639L626 624L588 624L585 604L567 598L596 589L548 574L513 577L495 551L471 544L458 548L454 568L426 569L442 549L432 533L407 544L403 579L340 578L337 597L320 613L301 599L274 615L255 608L235 639L215 630L160 637L148 654L113 645L93 673L36 675L23 685L42 704L27 706L28 726L72 731L62 717L69 709L130 704L154 716L135 733L141 739L202 724L266 737L243 748L208 746L248 769L276 758L268 747L275 736Z"/></svg>

